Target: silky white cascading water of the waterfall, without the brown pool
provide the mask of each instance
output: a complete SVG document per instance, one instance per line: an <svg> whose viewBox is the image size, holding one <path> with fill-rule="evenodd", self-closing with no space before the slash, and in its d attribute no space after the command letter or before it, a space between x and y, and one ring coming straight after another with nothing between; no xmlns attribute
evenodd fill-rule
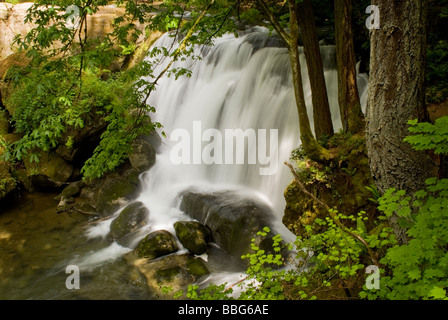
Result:
<svg viewBox="0 0 448 320"><path fill-rule="evenodd" d="M285 200L283 192L291 182L289 169L283 164L289 160L291 151L300 145L298 116L296 111L292 76L288 52L285 48L263 47L268 39L264 28L255 28L239 38L226 35L215 41L215 46L196 50L202 54L200 61L187 60L175 67L192 67L192 77L163 77L148 103L157 112L152 120L160 122L167 138L157 152L155 165L141 177L143 190L137 200L150 211L148 225L137 244L151 230L173 230L179 219L190 219L177 208L179 192L188 188L204 190L240 190L247 197L262 199L271 205L278 221L274 224L281 230L285 240L294 236L281 223ZM154 45L172 47L173 39L167 34ZM324 72L328 90L334 129L341 128L337 101L337 70L334 46L321 46ZM165 64L160 65L162 70ZM301 55L304 92L308 114L312 123L311 91L306 61ZM358 75L361 103L365 108L367 76ZM200 121L202 130L214 128L224 136L225 129L270 129L278 130L278 170L274 175L260 175L260 165L253 164L189 164L175 165L170 159L170 150L177 142L170 141L175 129L186 129L193 136L193 122ZM269 138L268 138L269 141ZM203 143L202 146L207 143ZM103 221L87 232L89 238L105 236L109 232L109 220ZM124 250L126 251L126 250ZM104 259L119 256L124 252L112 244L104 250ZM89 257L89 262L101 262L99 252Z"/></svg>

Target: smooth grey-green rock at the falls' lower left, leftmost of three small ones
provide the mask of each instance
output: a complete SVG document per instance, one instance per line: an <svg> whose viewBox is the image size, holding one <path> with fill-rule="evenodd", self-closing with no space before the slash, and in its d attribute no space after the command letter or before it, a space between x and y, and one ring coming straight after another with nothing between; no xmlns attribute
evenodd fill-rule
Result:
<svg viewBox="0 0 448 320"><path fill-rule="evenodd" d="M118 244L128 246L130 236L143 227L149 217L149 210L140 201L133 202L124 208L110 225L109 238Z"/></svg>

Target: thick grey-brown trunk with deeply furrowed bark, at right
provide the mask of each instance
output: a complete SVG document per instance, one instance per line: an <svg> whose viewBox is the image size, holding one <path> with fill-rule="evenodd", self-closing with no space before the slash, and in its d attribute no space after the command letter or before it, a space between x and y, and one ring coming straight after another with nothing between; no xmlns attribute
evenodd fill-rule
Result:
<svg viewBox="0 0 448 320"><path fill-rule="evenodd" d="M373 0L381 26L371 31L367 149L370 169L381 192L389 188L415 192L436 176L436 165L403 142L407 121L426 120L424 103L425 0ZM394 223L394 221L392 221ZM394 226L402 243L404 230Z"/></svg>

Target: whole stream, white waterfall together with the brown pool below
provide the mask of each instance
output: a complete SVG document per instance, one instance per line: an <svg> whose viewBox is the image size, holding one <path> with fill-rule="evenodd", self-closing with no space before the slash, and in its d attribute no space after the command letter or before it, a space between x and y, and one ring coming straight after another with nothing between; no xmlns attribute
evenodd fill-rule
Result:
<svg viewBox="0 0 448 320"><path fill-rule="evenodd" d="M166 34L154 45L168 48L172 41ZM335 48L322 45L321 53L337 131L341 123ZM216 40L215 46L198 49L196 54L202 59L176 66L192 67L191 77L162 78L148 101L157 110L153 120L162 123L167 137L162 138L157 150L156 164L141 176L143 190L137 200L148 207L150 221L135 242L150 230L173 231L176 220L188 219L178 209L176 198L189 188L205 192L236 190L244 197L267 203L276 213L273 223L285 239L291 240L293 235L281 224L283 191L292 179L283 162L300 145L300 137L286 48L266 29L257 27L237 38L225 35ZM303 55L301 60L311 111ZM358 75L363 106L367 83L366 75ZM311 112L309 116L312 120ZM225 147L226 130L238 129L254 133L254 140L247 138L246 142L252 143L244 145L243 161L236 164L238 148ZM183 153L173 152L181 141L188 142L183 144ZM235 151L235 157L226 158L230 150ZM250 154L255 155L252 162ZM180 159L184 163L176 164ZM208 164L211 160L214 164ZM263 168L268 174L261 174ZM0 299L151 299L142 289L141 276L127 270L126 263L119 259L131 249L105 239L118 212L96 224L64 215L54 218L53 196L28 196L31 207L15 207L0 215ZM42 225L31 225L32 219ZM68 275L64 271L69 264L85 270L82 290L65 288ZM218 272L215 279L223 274ZM229 275L235 273L229 271Z"/></svg>

